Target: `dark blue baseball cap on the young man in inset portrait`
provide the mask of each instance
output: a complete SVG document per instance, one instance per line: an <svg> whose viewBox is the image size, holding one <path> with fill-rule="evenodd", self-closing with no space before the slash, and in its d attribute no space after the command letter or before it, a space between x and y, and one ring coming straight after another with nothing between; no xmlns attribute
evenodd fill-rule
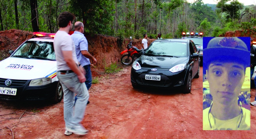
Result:
<svg viewBox="0 0 256 139"><path fill-rule="evenodd" d="M211 61L232 61L241 63L245 67L250 66L250 51L237 37L215 37L209 41L203 54L203 63L206 65Z"/></svg>

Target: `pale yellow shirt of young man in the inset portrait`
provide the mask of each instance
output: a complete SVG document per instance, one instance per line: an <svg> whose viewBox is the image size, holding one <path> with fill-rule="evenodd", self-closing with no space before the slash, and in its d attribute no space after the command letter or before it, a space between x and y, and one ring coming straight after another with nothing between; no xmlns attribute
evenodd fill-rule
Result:
<svg viewBox="0 0 256 139"><path fill-rule="evenodd" d="M219 120L213 117L211 113L209 114L209 110L210 107L203 110L203 130L251 130L251 111L247 110L246 108L242 107L242 120L241 114L229 120ZM210 123L212 125L212 128L210 126Z"/></svg>

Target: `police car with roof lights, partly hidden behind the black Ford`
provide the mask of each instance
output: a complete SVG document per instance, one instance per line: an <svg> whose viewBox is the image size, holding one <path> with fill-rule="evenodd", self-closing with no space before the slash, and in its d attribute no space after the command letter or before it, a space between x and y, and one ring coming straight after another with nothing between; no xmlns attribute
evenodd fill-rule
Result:
<svg viewBox="0 0 256 139"><path fill-rule="evenodd" d="M203 33L200 32L199 34L198 33L194 34L194 32L191 32L189 34L189 33L183 32L182 35L183 35L183 37L181 39L189 39L195 43L195 45L197 46L197 49L199 51L199 57L201 60L200 64L202 65L203 64L203 38L202 38Z"/></svg>

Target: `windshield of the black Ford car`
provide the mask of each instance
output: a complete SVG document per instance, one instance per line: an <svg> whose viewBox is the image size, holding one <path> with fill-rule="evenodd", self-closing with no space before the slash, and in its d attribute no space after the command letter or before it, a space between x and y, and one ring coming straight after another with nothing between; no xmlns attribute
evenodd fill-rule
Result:
<svg viewBox="0 0 256 139"><path fill-rule="evenodd" d="M171 41L153 42L146 50L145 55L186 57L187 43Z"/></svg>

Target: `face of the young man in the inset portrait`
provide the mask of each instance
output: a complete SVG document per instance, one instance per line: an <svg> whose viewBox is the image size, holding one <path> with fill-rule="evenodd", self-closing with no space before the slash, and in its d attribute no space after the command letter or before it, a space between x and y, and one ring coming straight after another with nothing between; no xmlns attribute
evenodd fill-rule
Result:
<svg viewBox="0 0 256 139"><path fill-rule="evenodd" d="M236 62L212 62L206 77L214 102L237 103L244 82L244 66Z"/></svg>

